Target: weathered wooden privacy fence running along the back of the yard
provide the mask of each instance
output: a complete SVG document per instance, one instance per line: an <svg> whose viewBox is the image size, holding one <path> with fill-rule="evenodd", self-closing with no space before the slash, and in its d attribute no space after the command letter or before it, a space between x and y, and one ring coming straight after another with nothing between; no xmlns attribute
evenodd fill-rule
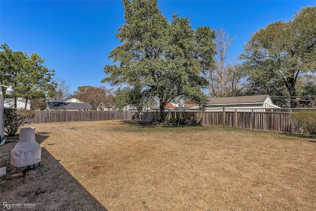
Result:
<svg viewBox="0 0 316 211"><path fill-rule="evenodd" d="M169 110L165 111L166 120L175 124L235 127L253 130L280 132L300 132L301 128L291 119L290 113L302 109L278 109L260 111L238 111L225 108L214 111ZM315 110L316 112L316 110ZM140 120L160 121L159 110L143 111L35 111L34 123Z"/></svg>

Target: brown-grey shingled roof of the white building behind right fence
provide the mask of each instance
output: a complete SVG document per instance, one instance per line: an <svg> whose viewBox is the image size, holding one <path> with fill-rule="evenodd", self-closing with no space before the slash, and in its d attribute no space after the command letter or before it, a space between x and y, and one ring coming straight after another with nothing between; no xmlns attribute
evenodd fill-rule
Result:
<svg viewBox="0 0 316 211"><path fill-rule="evenodd" d="M253 95L240 97L209 98L206 105L213 104L239 104L239 103L263 103L269 95Z"/></svg>

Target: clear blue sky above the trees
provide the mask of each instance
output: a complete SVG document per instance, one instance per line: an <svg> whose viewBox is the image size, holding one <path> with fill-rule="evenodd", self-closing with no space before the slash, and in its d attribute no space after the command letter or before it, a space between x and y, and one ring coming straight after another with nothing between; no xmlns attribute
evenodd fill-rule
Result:
<svg viewBox="0 0 316 211"><path fill-rule="evenodd" d="M259 28L315 5L315 0L158 0L167 20L176 13L190 18L194 29L206 25L236 35L232 57ZM123 14L120 0L0 0L0 44L36 52L71 91L81 85L110 87L100 81L104 66L112 64L110 51L120 44L114 34Z"/></svg>

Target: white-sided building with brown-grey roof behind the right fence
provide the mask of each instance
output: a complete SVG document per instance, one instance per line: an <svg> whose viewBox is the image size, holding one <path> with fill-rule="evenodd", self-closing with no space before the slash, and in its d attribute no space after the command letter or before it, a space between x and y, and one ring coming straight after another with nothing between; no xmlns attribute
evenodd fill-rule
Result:
<svg viewBox="0 0 316 211"><path fill-rule="evenodd" d="M280 108L273 104L270 96L253 95L240 97L219 97L209 98L206 105L203 107L205 111L271 111L273 108Z"/></svg>

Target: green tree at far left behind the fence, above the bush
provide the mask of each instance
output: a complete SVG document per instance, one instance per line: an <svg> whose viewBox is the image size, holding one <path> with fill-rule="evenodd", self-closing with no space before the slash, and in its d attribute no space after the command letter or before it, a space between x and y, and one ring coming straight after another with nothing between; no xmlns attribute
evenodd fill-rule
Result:
<svg viewBox="0 0 316 211"><path fill-rule="evenodd" d="M45 97L55 84L51 82L54 70L43 65L44 59L36 53L28 55L13 51L4 43L0 46L0 77L4 85L14 85L14 98L28 99Z"/></svg>

